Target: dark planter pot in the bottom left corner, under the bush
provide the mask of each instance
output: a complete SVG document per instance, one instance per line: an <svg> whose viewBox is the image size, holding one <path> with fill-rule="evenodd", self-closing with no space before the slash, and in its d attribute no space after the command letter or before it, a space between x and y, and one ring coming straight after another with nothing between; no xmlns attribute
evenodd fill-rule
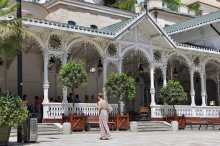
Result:
<svg viewBox="0 0 220 146"><path fill-rule="evenodd" d="M9 142L11 128L0 127L0 146L7 146Z"/></svg>

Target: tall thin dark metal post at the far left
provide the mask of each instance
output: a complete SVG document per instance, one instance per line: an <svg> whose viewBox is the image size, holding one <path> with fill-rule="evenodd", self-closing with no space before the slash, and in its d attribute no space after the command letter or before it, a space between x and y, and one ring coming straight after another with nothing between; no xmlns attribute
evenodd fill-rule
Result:
<svg viewBox="0 0 220 146"><path fill-rule="evenodd" d="M21 19L22 18L22 12L21 12L21 0L16 0L17 2L17 19ZM22 26L22 21L19 20L19 26ZM17 48L17 94L18 96L20 96L22 98L22 46L21 46L21 32L18 29L17 31L17 44L18 44L18 48ZM17 129L17 142L21 143L23 141L23 137L22 137L22 126L19 125L18 129Z"/></svg>

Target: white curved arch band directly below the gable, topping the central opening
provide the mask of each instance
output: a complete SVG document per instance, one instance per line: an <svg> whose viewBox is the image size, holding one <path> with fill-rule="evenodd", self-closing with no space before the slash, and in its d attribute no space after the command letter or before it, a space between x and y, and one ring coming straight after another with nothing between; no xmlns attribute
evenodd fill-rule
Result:
<svg viewBox="0 0 220 146"><path fill-rule="evenodd" d="M139 45L132 45L132 46L129 46L127 48L125 48L122 53L121 53L121 58L124 58L125 54L128 53L129 51L141 51L144 53L144 56L147 58L147 61L149 63L153 62L153 57L151 54L149 54L149 52L146 51L146 47L144 46L139 46Z"/></svg>

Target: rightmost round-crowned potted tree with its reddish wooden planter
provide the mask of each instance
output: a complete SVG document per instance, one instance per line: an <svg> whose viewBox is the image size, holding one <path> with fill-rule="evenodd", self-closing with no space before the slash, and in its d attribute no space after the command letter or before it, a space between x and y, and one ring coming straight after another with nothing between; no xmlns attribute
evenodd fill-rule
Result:
<svg viewBox="0 0 220 146"><path fill-rule="evenodd" d="M187 102L187 95L180 82L175 80L169 80L167 85L161 88L160 90L160 100L165 105L165 108L166 107L170 108L170 106L172 107L171 111L167 110L167 112L165 112L164 116L166 120L170 118L171 120L173 120L172 122L174 123L174 125L175 123L177 123L178 125L178 122L175 121L176 120L175 105L181 105Z"/></svg>

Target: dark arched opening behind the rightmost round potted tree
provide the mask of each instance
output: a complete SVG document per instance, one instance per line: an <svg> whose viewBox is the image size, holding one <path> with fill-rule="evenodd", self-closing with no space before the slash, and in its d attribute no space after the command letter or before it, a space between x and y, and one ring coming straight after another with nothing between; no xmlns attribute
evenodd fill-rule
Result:
<svg viewBox="0 0 220 146"><path fill-rule="evenodd" d="M186 60L182 56L173 55L168 60L167 79L177 80L183 86L184 91L187 93L186 104L191 103L190 96L190 73Z"/></svg>

